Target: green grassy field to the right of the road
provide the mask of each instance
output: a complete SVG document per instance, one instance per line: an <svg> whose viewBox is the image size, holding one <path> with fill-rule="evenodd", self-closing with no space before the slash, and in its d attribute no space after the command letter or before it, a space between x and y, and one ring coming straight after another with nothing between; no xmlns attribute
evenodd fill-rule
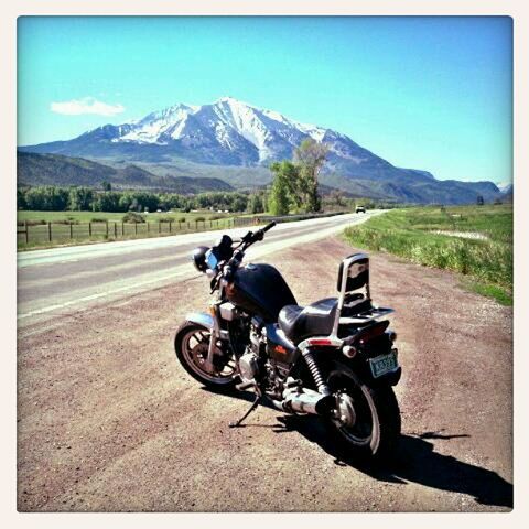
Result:
<svg viewBox="0 0 529 529"><path fill-rule="evenodd" d="M512 304L512 206L395 209L347 228L353 246L454 270L463 284Z"/></svg>

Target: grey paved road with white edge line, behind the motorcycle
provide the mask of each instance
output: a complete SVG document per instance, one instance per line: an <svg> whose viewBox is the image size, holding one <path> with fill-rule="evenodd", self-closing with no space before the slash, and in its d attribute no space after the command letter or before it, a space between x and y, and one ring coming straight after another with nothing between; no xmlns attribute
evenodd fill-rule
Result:
<svg viewBox="0 0 529 529"><path fill-rule="evenodd" d="M328 237L346 225L361 223L378 213L280 224L248 251L248 259ZM236 238L248 229L226 233ZM18 256L19 326L61 315L64 310L108 303L196 277L190 262L191 251L199 245L213 245L219 235L220 231L205 231L21 252Z"/></svg>

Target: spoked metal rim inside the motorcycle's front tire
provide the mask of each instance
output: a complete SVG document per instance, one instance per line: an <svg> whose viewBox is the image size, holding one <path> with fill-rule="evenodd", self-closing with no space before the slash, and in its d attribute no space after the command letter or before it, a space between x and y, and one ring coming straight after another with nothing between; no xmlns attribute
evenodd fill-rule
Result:
<svg viewBox="0 0 529 529"><path fill-rule="evenodd" d="M191 369L202 378L219 385L229 384L236 373L236 365L231 355L224 354L219 343L214 349L213 365L215 371L209 373L205 369L209 336L208 331L202 328L190 330L182 337L182 354Z"/></svg>

